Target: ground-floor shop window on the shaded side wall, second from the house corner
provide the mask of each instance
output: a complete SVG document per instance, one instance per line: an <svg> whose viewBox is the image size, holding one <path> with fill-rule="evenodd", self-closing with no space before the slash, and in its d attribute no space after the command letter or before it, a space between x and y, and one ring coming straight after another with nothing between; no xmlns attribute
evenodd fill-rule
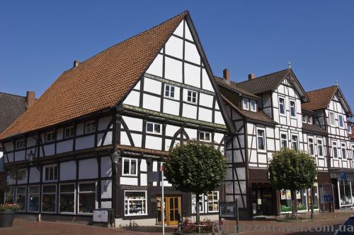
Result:
<svg viewBox="0 0 354 235"><path fill-rule="evenodd" d="M59 185L59 212L75 213L75 183Z"/></svg>

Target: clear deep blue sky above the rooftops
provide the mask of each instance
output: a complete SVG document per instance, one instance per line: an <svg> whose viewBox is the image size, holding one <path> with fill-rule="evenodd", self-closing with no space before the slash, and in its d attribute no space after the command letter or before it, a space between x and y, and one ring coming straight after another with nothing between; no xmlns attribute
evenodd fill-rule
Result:
<svg viewBox="0 0 354 235"><path fill-rule="evenodd" d="M41 95L74 59L188 10L212 71L232 80L292 68L305 90L334 85L354 109L354 1L1 1L0 91ZM354 111L354 110L353 110Z"/></svg>

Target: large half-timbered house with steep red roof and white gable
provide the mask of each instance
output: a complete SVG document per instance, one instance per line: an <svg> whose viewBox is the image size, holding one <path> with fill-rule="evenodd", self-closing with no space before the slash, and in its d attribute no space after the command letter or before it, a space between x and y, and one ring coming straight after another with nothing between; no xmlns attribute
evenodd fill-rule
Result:
<svg viewBox="0 0 354 235"><path fill-rule="evenodd" d="M188 12L74 61L1 133L12 200L25 215L91 220L113 208L115 225L161 224L160 171L171 147L197 139L224 150L234 127ZM217 216L219 188L192 195L165 188L166 224L192 215Z"/></svg>

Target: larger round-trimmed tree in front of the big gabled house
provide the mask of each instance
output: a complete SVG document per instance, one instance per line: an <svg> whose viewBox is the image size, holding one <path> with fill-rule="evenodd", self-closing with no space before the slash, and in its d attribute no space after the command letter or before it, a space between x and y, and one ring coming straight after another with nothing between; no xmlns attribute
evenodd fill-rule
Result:
<svg viewBox="0 0 354 235"><path fill-rule="evenodd" d="M195 193L196 223L200 222L199 196L221 185L227 165L215 145L188 140L173 147L166 158L166 179L183 193Z"/></svg>

